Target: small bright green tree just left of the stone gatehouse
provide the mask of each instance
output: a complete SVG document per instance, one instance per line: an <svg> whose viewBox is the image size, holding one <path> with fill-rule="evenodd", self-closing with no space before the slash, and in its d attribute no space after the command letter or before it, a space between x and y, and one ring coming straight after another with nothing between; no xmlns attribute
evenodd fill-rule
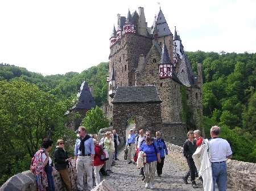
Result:
<svg viewBox="0 0 256 191"><path fill-rule="evenodd" d="M109 119L104 116L102 109L96 106L86 113L81 125L86 127L88 133L97 134L100 129L109 126Z"/></svg>

